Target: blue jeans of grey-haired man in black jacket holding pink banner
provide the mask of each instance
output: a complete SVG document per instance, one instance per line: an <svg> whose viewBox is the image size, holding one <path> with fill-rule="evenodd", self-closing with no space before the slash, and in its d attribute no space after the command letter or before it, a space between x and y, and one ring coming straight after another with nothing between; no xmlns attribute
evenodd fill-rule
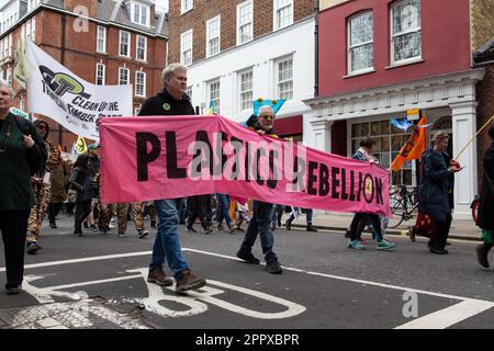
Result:
<svg viewBox="0 0 494 351"><path fill-rule="evenodd" d="M158 233L153 245L153 259L149 269L165 264L178 278L183 270L189 267L182 257L182 251L178 234L179 210L182 205L182 199L156 200L155 208L158 215Z"/></svg>

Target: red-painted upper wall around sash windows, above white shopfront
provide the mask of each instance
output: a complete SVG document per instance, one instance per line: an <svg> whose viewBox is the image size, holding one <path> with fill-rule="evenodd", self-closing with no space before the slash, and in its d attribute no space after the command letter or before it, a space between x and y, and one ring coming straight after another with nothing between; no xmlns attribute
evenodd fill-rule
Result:
<svg viewBox="0 0 494 351"><path fill-rule="evenodd" d="M470 69L469 1L423 0L422 58L414 65L386 69L390 54L390 5L394 0L348 1L319 14L319 93L322 97L418 80ZM372 10L374 72L346 77L347 19Z"/></svg>

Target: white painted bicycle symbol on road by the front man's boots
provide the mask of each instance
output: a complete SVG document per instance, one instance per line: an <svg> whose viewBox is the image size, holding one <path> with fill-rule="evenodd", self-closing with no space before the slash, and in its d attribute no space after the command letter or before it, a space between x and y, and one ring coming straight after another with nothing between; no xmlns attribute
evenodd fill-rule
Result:
<svg viewBox="0 0 494 351"><path fill-rule="evenodd" d="M156 284L148 283L146 281L147 278L147 268L143 269L135 269L135 270L127 270L126 273L135 273L132 275L126 276L120 276L120 278L113 278L113 279L105 279L105 280L99 280L99 281L88 281L88 282L79 282L74 284L66 284L66 285L56 285L56 286L45 286L45 287L38 287L33 285L35 281L40 281L44 279L44 275L27 275L25 276L23 288L25 292L33 295L37 302L42 305L47 306L56 306L60 308L64 306L64 304L70 304L71 305L71 313L75 315L75 317L82 316L83 322L80 322L80 320L77 324L70 324L67 326L67 321L65 320L61 322L61 326L65 327L88 327L92 325L92 322L89 320L89 314L94 314L100 318L106 319L113 324L119 325L123 328L144 328L146 327L144 324L141 324L135 319L128 319L124 320L125 318L119 317L119 313L106 308L102 305L96 304L91 298L88 298L87 294L85 292L68 292L67 290L74 290L78 287L83 286L91 286L91 285L98 285L98 284L108 284L112 282L117 281L126 281L126 280L134 280L134 279L144 279L144 282L147 287L148 296L147 297L137 297L137 298L119 298L110 301L110 303L136 303L142 305L146 310L154 313L161 317L187 317L187 316L194 316L202 313L205 313L209 309L209 305L214 305L217 307L221 307L223 309L226 309L228 312L240 314L247 317L251 318L258 318L258 319L283 319L283 318L290 318L297 316L306 310L306 308L300 304L292 303L290 301L287 301L281 297L277 297L273 295L269 295L266 293L261 293L255 290L215 281L215 280L207 280L207 285L204 287L201 287L197 291L188 292L187 295L176 295L175 294L175 285L169 286L167 288L162 288L161 286L158 286ZM255 310L249 309L239 305L234 304L233 302L226 301L227 296L223 296L224 299L221 298L222 295L225 295L227 291L233 291L238 294L246 295L247 297L254 297L257 299L261 299L265 303L268 303L269 309L272 310L272 305L280 306L280 312L262 312L262 310ZM54 297L66 297L70 298L74 302L69 303L56 303ZM237 297L238 298L238 297ZM75 305L75 302L77 302L77 305ZM166 307L167 302L170 302L172 304L168 304L169 306ZM48 305L49 304L49 305ZM180 304L181 306L184 306L186 308L180 309L173 309L170 307L170 305L173 304ZM74 308L76 307L76 308ZM29 307L29 308L36 308L36 307ZM22 314L21 312L20 314ZM18 315L20 315L18 314ZM23 314L25 316L25 313ZM45 310L46 315L46 310ZM49 313L47 314L49 315ZM49 317L53 318L53 317ZM21 320L22 318L18 318ZM80 318L79 318L80 319Z"/></svg>

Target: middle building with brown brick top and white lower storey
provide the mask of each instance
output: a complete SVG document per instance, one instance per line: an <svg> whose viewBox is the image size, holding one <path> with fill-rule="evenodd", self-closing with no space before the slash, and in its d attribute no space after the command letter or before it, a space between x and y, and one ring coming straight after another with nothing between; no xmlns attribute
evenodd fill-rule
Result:
<svg viewBox="0 0 494 351"><path fill-rule="evenodd" d="M285 99L276 129L301 140L314 97L315 0L171 0L169 61L189 67L202 111L244 122L251 102ZM280 80L282 77L282 80Z"/></svg>

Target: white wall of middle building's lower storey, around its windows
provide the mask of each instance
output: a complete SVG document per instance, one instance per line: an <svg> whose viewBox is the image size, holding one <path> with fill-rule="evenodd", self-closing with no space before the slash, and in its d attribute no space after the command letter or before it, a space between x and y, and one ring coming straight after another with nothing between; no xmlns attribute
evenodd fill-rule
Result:
<svg viewBox="0 0 494 351"><path fill-rule="evenodd" d="M202 103L207 107L207 82L220 78L221 114L244 122L252 110L239 109L237 72L252 68L254 100L259 97L274 99L274 63L292 55L294 99L285 102L277 117L310 113L311 109L302 100L314 97L314 18L306 19L189 66L188 86L192 87L192 104L200 106Z"/></svg>

